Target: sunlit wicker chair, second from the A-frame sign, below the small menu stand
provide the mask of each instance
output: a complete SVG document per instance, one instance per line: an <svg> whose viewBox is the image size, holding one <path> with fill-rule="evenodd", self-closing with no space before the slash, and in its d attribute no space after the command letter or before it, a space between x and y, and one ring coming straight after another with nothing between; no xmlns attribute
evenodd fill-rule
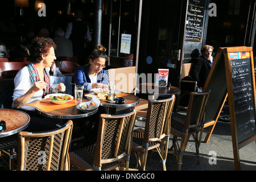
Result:
<svg viewBox="0 0 256 182"><path fill-rule="evenodd" d="M171 114L174 107L175 96L165 100L148 100L145 129L133 131L133 144L131 149L137 152L137 164L142 170L146 168L147 153L149 150L158 151L166 170L168 141L170 137Z"/></svg>

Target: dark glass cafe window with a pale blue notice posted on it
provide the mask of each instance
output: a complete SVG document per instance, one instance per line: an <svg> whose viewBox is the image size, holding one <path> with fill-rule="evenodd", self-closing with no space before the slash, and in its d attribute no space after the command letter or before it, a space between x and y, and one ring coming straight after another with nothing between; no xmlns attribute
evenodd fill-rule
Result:
<svg viewBox="0 0 256 182"><path fill-rule="evenodd" d="M137 0L109 0L109 65L135 65L138 27ZM106 3L106 1L105 1Z"/></svg>

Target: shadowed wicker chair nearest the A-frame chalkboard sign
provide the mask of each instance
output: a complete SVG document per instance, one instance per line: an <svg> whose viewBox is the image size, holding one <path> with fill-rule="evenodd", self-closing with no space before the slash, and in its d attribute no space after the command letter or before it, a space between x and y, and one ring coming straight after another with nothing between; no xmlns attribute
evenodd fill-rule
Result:
<svg viewBox="0 0 256 182"><path fill-rule="evenodd" d="M205 106L207 105L209 94L210 90L201 93L191 92L187 115L172 113L171 134L174 135L174 138L169 152L176 155L179 170L181 169L183 153L191 135L196 144L197 163L200 163L199 146L204 129ZM181 138L180 144L177 138Z"/></svg>

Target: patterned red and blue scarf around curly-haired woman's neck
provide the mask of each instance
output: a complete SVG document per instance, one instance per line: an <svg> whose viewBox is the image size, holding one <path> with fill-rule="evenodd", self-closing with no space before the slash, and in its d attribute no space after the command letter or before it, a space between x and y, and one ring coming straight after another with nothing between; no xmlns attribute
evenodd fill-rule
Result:
<svg viewBox="0 0 256 182"><path fill-rule="evenodd" d="M32 83L34 84L35 82L39 81L40 77L38 74L38 70L36 69L35 63L30 61L30 63L27 65L27 68L28 72L30 72L30 78ZM47 94L52 93L50 76L49 73L46 71L46 68L44 68L44 81L47 84L47 89L43 89L44 96L46 96Z"/></svg>

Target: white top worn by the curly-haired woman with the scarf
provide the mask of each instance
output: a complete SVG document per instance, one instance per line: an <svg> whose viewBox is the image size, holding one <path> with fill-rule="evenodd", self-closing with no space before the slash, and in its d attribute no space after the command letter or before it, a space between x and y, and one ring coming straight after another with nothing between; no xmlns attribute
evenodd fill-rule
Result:
<svg viewBox="0 0 256 182"><path fill-rule="evenodd" d="M23 96L34 84L31 81L30 73L28 72L28 68L24 67L20 69L20 71L17 73L17 75L14 78L14 93L13 93L13 102L16 100L16 98ZM27 102L27 104L30 104L32 102L40 101L43 96L43 89L36 92L30 100ZM12 105L14 107L14 103ZM28 106L24 105L20 107L20 109L24 110L31 110L35 111L34 106Z"/></svg>

